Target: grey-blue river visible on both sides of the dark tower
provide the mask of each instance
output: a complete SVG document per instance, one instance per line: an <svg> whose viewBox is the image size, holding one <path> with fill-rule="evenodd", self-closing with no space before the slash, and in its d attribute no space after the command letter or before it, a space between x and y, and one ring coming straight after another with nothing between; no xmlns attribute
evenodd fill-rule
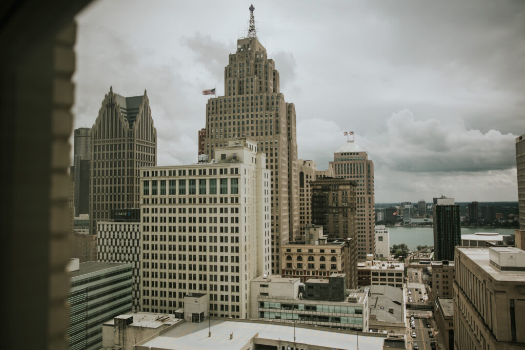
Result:
<svg viewBox="0 0 525 350"><path fill-rule="evenodd" d="M417 246L433 246L434 230L432 227L387 227L390 230L390 247L405 243L408 249ZM500 235L511 235L513 228L461 228L461 235L472 235L475 232L498 232Z"/></svg>

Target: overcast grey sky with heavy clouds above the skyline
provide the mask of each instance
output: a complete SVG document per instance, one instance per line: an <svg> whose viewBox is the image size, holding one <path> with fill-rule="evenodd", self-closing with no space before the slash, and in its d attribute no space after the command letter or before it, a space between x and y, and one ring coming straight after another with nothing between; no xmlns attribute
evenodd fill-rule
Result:
<svg viewBox="0 0 525 350"><path fill-rule="evenodd" d="M75 128L104 95L148 90L158 164L194 163L207 97L246 36L246 1L95 1L77 16ZM299 158L328 167L353 131L376 203L517 200L525 1L254 1L297 111Z"/></svg>

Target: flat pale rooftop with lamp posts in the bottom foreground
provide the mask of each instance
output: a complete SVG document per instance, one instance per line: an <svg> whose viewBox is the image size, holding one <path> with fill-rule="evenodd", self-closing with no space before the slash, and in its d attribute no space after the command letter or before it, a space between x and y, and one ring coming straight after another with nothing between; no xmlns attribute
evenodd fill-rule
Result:
<svg viewBox="0 0 525 350"><path fill-rule="evenodd" d="M295 325L296 342L311 346L325 347L330 344L332 348L355 349L358 339L355 332L326 330L319 327ZM293 325L278 322L264 321L226 321L223 319L211 320L212 336L208 337L208 322L184 322L173 327L166 333L137 345L137 350L148 348L161 349L241 349L246 348L252 339L293 342ZM233 338L230 339L230 334ZM383 349L385 336L381 334L359 334L359 344L367 350ZM301 347L301 346L299 346ZM304 346L302 346L304 347Z"/></svg>

